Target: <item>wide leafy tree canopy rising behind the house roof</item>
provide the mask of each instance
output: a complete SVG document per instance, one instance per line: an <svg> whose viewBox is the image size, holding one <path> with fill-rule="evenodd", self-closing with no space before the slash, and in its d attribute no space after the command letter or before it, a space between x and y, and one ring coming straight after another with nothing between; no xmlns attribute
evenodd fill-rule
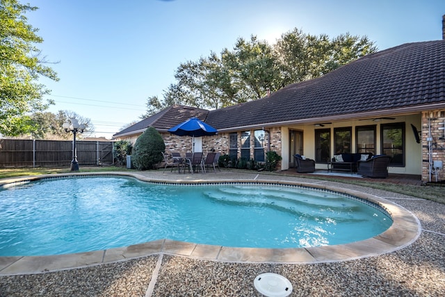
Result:
<svg viewBox="0 0 445 297"><path fill-rule="evenodd" d="M170 106L184 104L219 109L266 96L291 83L321 77L377 48L366 36L349 33L330 39L305 34L298 29L284 33L273 46L252 35L238 38L232 50L220 55L181 63L164 99L151 97L150 115Z"/></svg>

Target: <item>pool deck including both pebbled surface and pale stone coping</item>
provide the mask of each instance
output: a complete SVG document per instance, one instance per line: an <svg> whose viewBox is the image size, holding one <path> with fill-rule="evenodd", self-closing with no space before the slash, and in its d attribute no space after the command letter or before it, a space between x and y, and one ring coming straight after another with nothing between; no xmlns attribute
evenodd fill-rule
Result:
<svg viewBox="0 0 445 297"><path fill-rule="evenodd" d="M294 296L346 294L344 286L349 287L348 294L352 290L364 295L445 292L444 204L339 182L257 172L131 174L149 181L255 181L330 188L378 202L391 213L395 225L373 239L321 248L239 249L160 240L74 255L0 257L0 296L68 291L102 296L259 296L253 280L264 272L288 278ZM64 283L58 284L59 280Z"/></svg>

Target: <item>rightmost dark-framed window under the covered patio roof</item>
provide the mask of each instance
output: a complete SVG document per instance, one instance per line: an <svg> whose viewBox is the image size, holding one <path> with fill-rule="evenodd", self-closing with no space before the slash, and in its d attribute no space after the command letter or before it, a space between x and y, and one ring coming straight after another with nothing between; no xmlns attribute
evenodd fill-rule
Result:
<svg viewBox="0 0 445 297"><path fill-rule="evenodd" d="M405 125L382 125L382 154L391 156L390 166L405 166Z"/></svg>

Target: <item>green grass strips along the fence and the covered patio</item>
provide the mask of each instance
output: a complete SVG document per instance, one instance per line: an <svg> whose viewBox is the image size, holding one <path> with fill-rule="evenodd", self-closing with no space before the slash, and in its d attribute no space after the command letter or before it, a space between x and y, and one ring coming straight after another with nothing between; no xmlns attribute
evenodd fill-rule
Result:
<svg viewBox="0 0 445 297"><path fill-rule="evenodd" d="M79 172L104 172L104 171L127 171L129 169L118 166L104 166L104 167L82 167ZM134 170L130 170L134 171ZM6 177L20 177L26 175L51 175L56 173L70 172L70 168L14 168L6 169L0 168L0 179ZM280 173L276 173L280 174ZM307 178L311 178L306 176ZM317 179L321 179L317 177ZM394 193L401 193L410 195L417 198L423 198L445 204L445 186L442 184L428 184L427 186L416 185L401 185L391 184L389 182L379 182L377 180L373 182L356 181L350 179L338 179L335 177L323 177L325 180L332 182L343 182L348 184L357 184L358 186L368 186L370 188L378 188L381 190L391 191Z"/></svg>

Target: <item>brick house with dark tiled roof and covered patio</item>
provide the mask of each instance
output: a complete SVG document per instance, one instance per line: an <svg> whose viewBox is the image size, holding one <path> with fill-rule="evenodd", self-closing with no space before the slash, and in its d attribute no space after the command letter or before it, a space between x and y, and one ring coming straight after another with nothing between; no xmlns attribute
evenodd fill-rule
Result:
<svg viewBox="0 0 445 297"><path fill-rule="evenodd" d="M264 151L275 150L281 170L294 166L293 154L314 159L318 169L340 152L388 154L389 173L428 182L433 165L445 162L445 33L443 40L385 49L251 102L213 111L170 106L114 137L134 140L151 125L167 150L184 152L191 139L167 129L192 116L218 129L195 143L204 152L263 161ZM441 168L437 175L445 176Z"/></svg>

